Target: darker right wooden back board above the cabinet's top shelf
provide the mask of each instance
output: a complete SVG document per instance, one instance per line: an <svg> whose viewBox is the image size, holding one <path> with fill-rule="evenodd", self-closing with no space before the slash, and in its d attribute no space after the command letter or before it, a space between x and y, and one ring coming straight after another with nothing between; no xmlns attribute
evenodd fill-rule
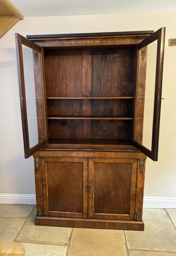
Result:
<svg viewBox="0 0 176 256"><path fill-rule="evenodd" d="M134 48L92 49L92 97L133 96Z"/></svg>

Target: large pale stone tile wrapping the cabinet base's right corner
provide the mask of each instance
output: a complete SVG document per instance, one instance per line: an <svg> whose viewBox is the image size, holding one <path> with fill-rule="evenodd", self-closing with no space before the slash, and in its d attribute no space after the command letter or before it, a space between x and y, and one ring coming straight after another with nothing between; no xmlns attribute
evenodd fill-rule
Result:
<svg viewBox="0 0 176 256"><path fill-rule="evenodd" d="M164 209L144 208L144 231L125 231L130 249L176 252L176 231Z"/></svg>

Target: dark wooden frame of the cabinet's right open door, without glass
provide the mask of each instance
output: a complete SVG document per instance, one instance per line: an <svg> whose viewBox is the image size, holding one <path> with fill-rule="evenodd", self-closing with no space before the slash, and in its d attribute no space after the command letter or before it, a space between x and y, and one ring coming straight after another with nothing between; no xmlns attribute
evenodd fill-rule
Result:
<svg viewBox="0 0 176 256"><path fill-rule="evenodd" d="M138 93L138 63L139 63L139 50L157 41L157 57L156 57L156 77L155 77L155 100L153 112L153 126L152 126L152 148L149 150L136 140L136 116L137 116L137 93ZM164 41L165 41L165 28L160 28L152 35L148 36L136 46L136 84L134 90L134 105L133 105L133 131L132 131L132 144L146 156L153 161L158 160L158 143L159 143L159 130L160 130L160 111L161 111L161 98L162 98L162 73L163 73L163 60L164 60ZM157 97L156 97L157 96ZM157 99L156 99L157 98Z"/></svg>

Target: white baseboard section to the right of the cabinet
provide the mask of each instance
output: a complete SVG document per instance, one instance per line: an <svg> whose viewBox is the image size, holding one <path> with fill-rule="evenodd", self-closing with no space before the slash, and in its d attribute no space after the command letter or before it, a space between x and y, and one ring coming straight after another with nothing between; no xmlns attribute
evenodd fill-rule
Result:
<svg viewBox="0 0 176 256"><path fill-rule="evenodd" d="M144 197L144 208L176 208L176 197Z"/></svg>

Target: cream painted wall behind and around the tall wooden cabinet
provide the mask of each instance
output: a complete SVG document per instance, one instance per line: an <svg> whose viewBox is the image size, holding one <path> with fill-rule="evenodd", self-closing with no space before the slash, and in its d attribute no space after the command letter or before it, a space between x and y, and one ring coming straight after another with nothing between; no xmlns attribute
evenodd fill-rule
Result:
<svg viewBox="0 0 176 256"><path fill-rule="evenodd" d="M33 158L24 159L14 33L89 33L166 27L158 162L146 161L144 195L176 197L176 11L110 15L27 17L0 39L0 193L34 194Z"/></svg>

